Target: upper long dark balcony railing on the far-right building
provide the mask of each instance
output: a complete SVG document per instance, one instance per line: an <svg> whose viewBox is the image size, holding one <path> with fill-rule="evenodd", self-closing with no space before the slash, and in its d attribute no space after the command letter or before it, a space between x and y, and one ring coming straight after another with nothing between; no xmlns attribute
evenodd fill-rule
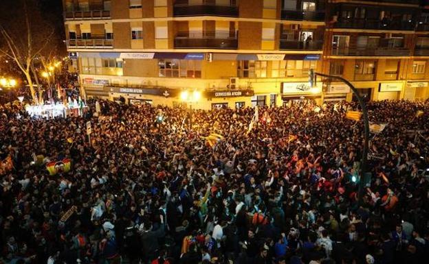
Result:
<svg viewBox="0 0 429 264"><path fill-rule="evenodd" d="M413 21L381 21L379 19L341 19L334 24L338 28L415 30Z"/></svg>

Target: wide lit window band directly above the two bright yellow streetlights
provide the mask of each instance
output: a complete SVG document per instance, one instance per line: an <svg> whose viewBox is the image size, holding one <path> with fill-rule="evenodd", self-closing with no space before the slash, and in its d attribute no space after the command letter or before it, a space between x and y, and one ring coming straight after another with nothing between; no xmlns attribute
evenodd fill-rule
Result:
<svg viewBox="0 0 429 264"><path fill-rule="evenodd" d="M159 60L158 75L201 78L201 60Z"/></svg>

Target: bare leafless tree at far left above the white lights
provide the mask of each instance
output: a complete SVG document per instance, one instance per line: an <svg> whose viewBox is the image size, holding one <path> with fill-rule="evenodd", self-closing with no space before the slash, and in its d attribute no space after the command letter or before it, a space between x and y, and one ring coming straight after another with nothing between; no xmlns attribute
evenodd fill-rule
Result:
<svg viewBox="0 0 429 264"><path fill-rule="evenodd" d="M32 62L50 43L54 29L41 18L36 1L9 2L5 1L4 5L10 6L4 6L2 10L14 12L14 14L8 14L6 17L3 14L3 21L0 21L0 37L3 40L0 43L0 53L17 64L30 86L33 101L37 103L31 75ZM14 16L12 21L10 20L11 15Z"/></svg>

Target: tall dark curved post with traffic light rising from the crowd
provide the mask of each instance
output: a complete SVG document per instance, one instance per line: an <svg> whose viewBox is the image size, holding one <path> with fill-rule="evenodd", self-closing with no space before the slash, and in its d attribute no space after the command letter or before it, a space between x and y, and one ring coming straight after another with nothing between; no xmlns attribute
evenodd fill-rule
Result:
<svg viewBox="0 0 429 264"><path fill-rule="evenodd" d="M366 173L366 163L368 161L368 148L369 148L369 119L368 119L368 110L366 110L366 104L364 99L359 95L358 90L351 84L348 80L340 76L328 75L323 73L316 73L313 69L309 71L309 84L310 86L316 85L316 77L326 77L329 80L339 80L347 84L350 87L351 91L358 98L360 107L362 108L362 116L364 121L364 148L362 150L362 161L360 165L360 181L359 181L359 191L358 191L358 203L362 204L362 197L364 196L364 175Z"/></svg>

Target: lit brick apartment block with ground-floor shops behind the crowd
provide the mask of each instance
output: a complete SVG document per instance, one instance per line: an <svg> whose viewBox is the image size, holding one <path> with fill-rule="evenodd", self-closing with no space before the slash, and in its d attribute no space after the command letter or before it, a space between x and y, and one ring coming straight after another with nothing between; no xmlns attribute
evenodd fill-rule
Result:
<svg viewBox="0 0 429 264"><path fill-rule="evenodd" d="M429 10L417 0L63 0L87 97L193 107L429 97Z"/></svg>

